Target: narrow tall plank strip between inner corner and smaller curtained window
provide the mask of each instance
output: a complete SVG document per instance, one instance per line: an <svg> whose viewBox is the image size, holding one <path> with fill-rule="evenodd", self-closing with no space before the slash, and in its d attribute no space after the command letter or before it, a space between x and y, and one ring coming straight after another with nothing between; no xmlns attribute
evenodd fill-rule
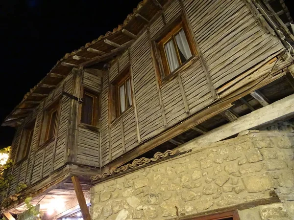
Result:
<svg viewBox="0 0 294 220"><path fill-rule="evenodd" d="M109 132L108 132L108 75L104 72L102 79L102 93L101 93L101 163L107 164L110 161L109 158Z"/></svg>

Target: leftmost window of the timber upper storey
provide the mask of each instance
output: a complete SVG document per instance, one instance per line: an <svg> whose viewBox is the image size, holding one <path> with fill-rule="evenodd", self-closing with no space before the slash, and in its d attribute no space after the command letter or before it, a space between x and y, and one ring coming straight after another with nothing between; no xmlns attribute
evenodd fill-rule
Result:
<svg viewBox="0 0 294 220"><path fill-rule="evenodd" d="M30 150L30 146L33 140L34 124L35 123L31 123L29 126L25 127L23 130L19 152L17 155L17 162L19 162L20 160L22 160L28 155L28 152Z"/></svg>

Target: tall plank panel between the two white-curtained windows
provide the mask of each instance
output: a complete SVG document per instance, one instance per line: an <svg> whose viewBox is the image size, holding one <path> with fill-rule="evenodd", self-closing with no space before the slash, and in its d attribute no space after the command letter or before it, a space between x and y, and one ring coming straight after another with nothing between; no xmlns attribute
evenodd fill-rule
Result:
<svg viewBox="0 0 294 220"><path fill-rule="evenodd" d="M130 53L133 63L134 89L140 135L142 140L146 140L164 130L151 58L151 48L146 31L131 46Z"/></svg>

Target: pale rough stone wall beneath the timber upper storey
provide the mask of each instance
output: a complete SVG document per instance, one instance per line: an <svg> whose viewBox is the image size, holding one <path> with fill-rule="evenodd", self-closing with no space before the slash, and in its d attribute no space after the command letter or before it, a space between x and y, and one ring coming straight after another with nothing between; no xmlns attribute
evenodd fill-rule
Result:
<svg viewBox="0 0 294 220"><path fill-rule="evenodd" d="M284 205L294 200L293 137L245 135L195 149L92 187L92 219L166 220L273 201L275 209L240 211L241 220L275 219L275 210L291 219Z"/></svg>

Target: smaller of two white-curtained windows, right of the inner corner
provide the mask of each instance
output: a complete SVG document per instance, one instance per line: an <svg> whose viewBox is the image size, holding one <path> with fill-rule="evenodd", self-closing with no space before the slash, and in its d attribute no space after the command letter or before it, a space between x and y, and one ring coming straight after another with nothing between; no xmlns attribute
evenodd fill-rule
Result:
<svg viewBox="0 0 294 220"><path fill-rule="evenodd" d="M113 120L133 105L129 67L125 68L111 83L110 92Z"/></svg>

